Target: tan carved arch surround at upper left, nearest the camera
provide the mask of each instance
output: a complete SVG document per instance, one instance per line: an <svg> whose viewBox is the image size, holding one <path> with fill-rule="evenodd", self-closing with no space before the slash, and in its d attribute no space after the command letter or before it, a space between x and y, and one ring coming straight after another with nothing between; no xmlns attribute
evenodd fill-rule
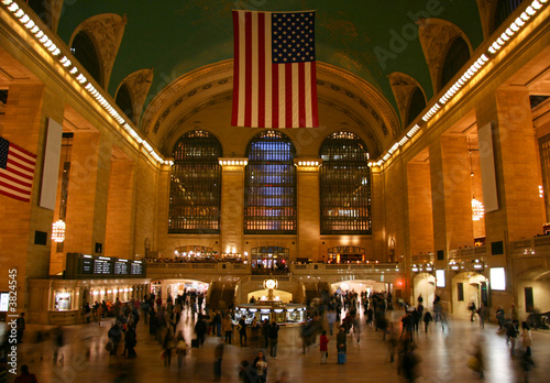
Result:
<svg viewBox="0 0 550 383"><path fill-rule="evenodd" d="M100 85L107 89L109 87L109 79L111 77L112 66L114 58L119 52L120 42L124 34L124 28L128 19L116 13L98 14L88 20L85 20L77 26L70 44L78 32L85 31L96 44L96 50L99 54L99 64L102 69L102 78Z"/></svg>

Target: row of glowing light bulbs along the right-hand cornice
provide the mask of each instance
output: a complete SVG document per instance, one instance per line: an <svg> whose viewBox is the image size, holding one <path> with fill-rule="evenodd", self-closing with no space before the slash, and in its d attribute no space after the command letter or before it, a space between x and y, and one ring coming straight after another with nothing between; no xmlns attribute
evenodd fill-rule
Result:
<svg viewBox="0 0 550 383"><path fill-rule="evenodd" d="M470 81L470 79L490 61L491 55L496 55L496 53L504 46L506 43L517 34L526 23L534 18L542 7L548 2L548 0L534 0L530 6L526 8L521 14L514 20L509 26L495 39L493 44L487 48L486 53L483 53L464 73L462 76L447 90L447 92L436 101L433 106L422 116L422 121L428 122L433 116L436 116L441 107L449 102L457 92ZM420 130L420 125L415 124L408 132L405 134L399 142L396 142L387 153L378 162L370 162L369 166L382 166L386 161L392 157L395 151L399 146L404 146L406 142L408 142L418 131Z"/></svg>

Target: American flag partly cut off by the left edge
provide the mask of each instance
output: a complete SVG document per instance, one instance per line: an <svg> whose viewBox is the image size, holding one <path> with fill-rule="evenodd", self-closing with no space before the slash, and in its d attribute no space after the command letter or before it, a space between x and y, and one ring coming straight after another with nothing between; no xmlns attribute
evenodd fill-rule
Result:
<svg viewBox="0 0 550 383"><path fill-rule="evenodd" d="M0 136L0 194L29 203L36 155Z"/></svg>

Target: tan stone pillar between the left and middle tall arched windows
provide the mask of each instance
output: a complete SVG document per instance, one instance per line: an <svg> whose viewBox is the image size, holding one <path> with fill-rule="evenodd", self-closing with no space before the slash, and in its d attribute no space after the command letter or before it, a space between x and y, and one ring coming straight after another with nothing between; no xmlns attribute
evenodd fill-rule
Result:
<svg viewBox="0 0 550 383"><path fill-rule="evenodd" d="M222 253L243 253L244 167L248 158L219 158L221 173L220 238Z"/></svg>

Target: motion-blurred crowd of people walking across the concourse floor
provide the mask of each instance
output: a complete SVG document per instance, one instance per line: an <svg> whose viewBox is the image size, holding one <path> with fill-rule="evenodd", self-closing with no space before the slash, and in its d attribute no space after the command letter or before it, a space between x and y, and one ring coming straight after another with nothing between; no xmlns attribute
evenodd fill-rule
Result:
<svg viewBox="0 0 550 383"><path fill-rule="evenodd" d="M103 309L103 306L106 308ZM479 320L483 329L488 316L488 310L480 305L470 305L471 320ZM424 330L429 333L432 322L442 331L448 331L447 315L439 297L425 308L424 298L418 296L416 305L398 306L394 310L392 294L387 292L338 292L332 295L324 294L310 306L307 320L301 325L301 352L311 350L320 352L319 363L329 361L338 364L348 363L348 350L353 343L360 343L362 331L378 332L380 340L386 344L387 362L395 365L399 375L405 381L414 382L419 375L421 354L417 344L417 337ZM403 311L402 311L403 310ZM215 381L221 380L222 361L226 347L239 346L242 348L260 349L261 351L250 360L243 360L238 366L239 377L242 382L266 382L270 371L270 360L277 359L279 325L265 319L260 321L254 318L246 322L239 317L234 307L228 309L209 309L204 294L195 291L185 291L183 295L168 296L166 299L151 294L144 299L131 299L121 303L95 303L90 305L92 318L101 327L101 319L107 313L112 313L113 319L107 325L107 342L105 352L109 359L139 358L138 326L146 326L152 340L158 343L162 363L169 368L173 359L177 361L177 369L185 369L185 360L194 348L202 349L209 337L216 337L213 342L212 375ZM400 314L403 313L403 314ZM392 314L392 315L389 315ZM186 339L180 320L184 316L191 318L193 338ZM394 320L400 317L399 320ZM506 346L514 359L519 360L525 376L535 368L531 354L532 338L526 321L519 321L517 307L510 307L508 315L503 307L498 307L495 319L499 326L499 333L506 338ZM20 320L21 321L21 320ZM424 321L424 327L421 322ZM90 326L94 327L94 322ZM20 326L21 327L21 326ZM92 328L90 327L90 328ZM105 328L105 326L103 326ZM23 341L23 331L18 336L18 341ZM141 331L143 333L143 331ZM483 332L481 332L483 333ZM53 346L53 363L63 363L63 349L66 344L65 330L55 327L51 330L38 331L36 344L45 343L45 339ZM237 340L238 339L238 340ZM364 339L364 338L363 338ZM212 344L212 341L209 341ZM211 348L211 347L209 347ZM337 358L328 355L336 350ZM43 347L36 347L35 352L42 353ZM89 355L89 350L87 355ZM485 374L484 339L480 336L472 344L468 366L480 377ZM36 357L37 358L37 357ZM29 368L22 368L24 379L31 376ZM278 376L277 376L278 377ZM36 376L33 377L36 381ZM288 381L284 373L279 382ZM22 380L20 380L22 381Z"/></svg>

